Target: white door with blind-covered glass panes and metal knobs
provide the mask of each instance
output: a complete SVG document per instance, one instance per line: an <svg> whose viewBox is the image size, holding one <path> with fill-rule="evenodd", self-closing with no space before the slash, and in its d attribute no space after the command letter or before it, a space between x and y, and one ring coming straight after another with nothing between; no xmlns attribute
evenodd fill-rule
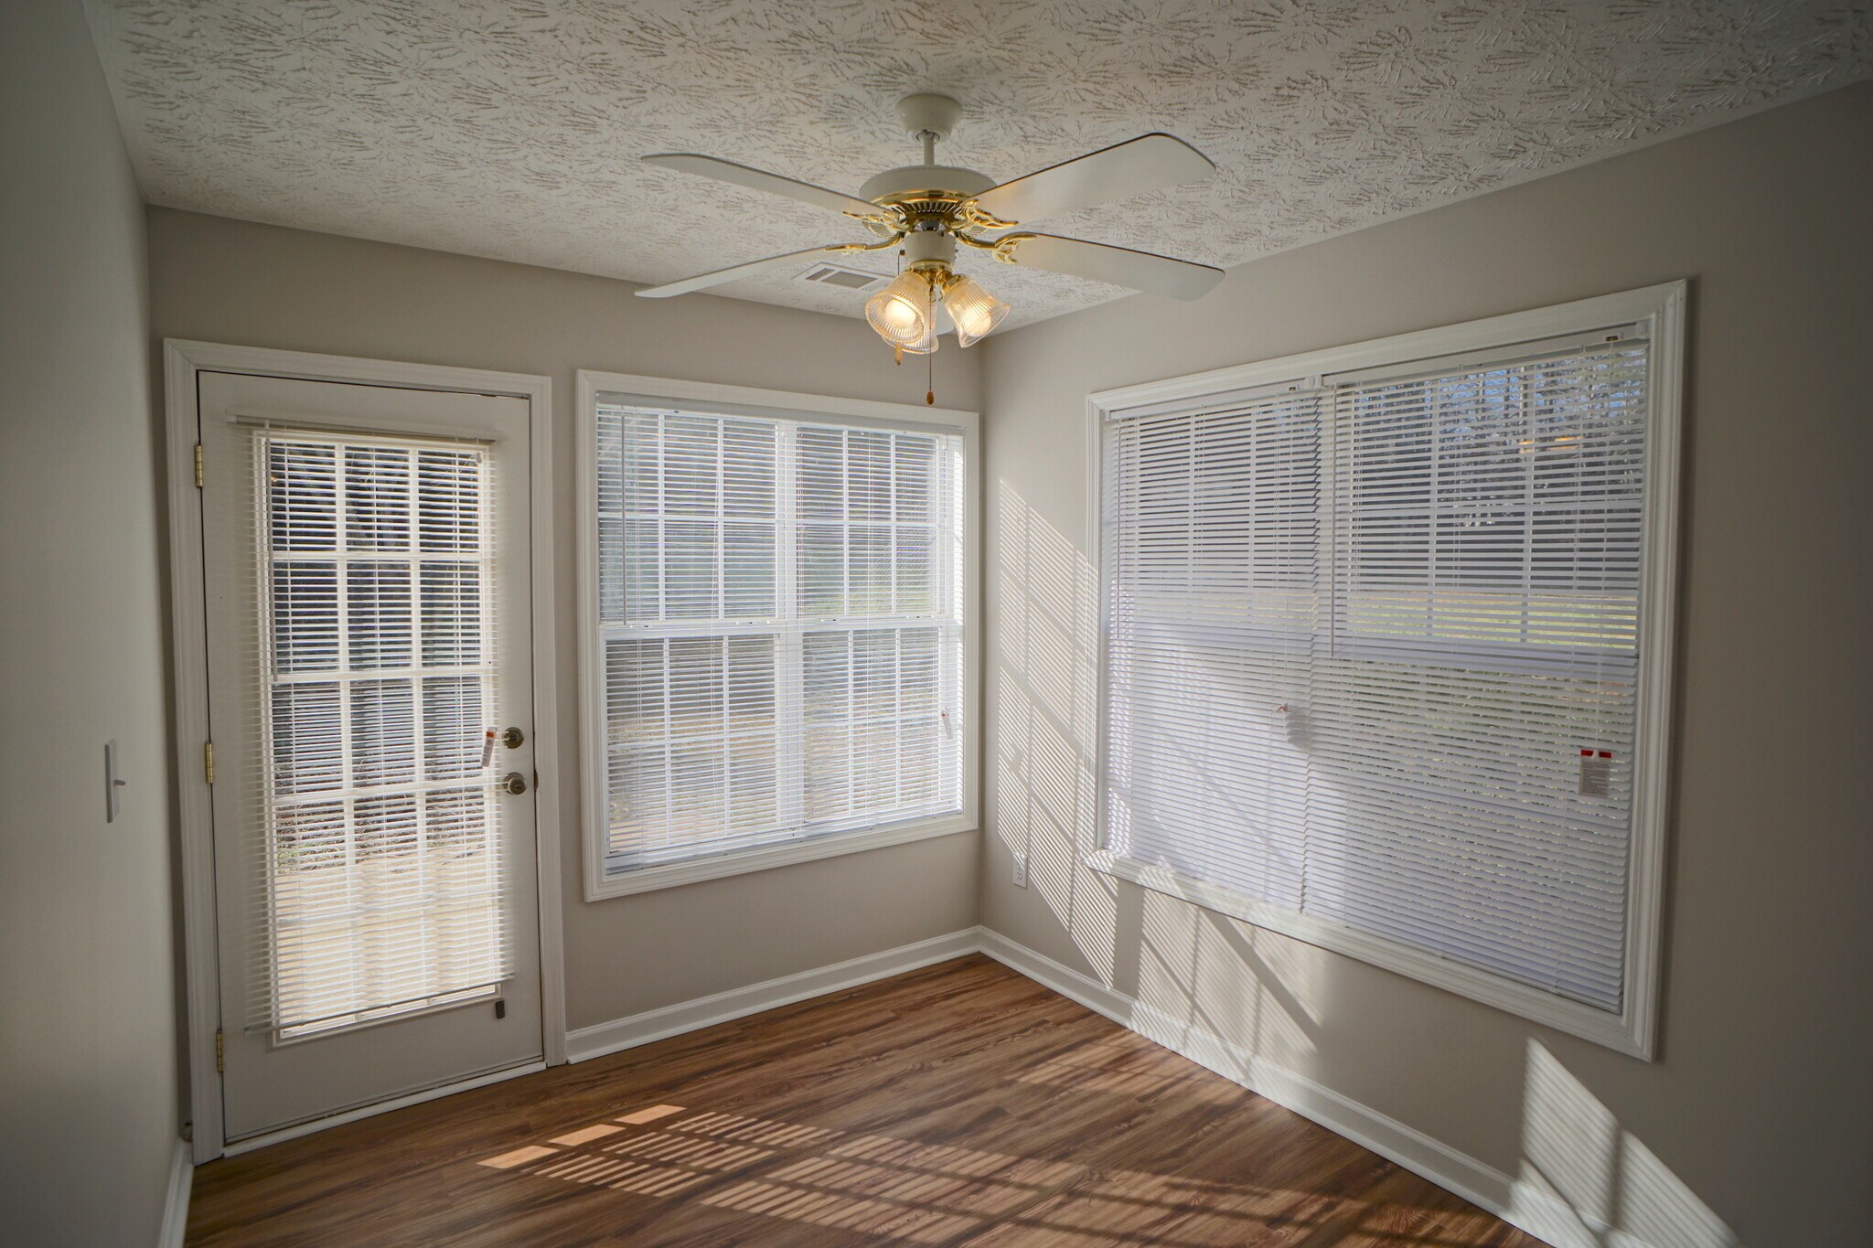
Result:
<svg viewBox="0 0 1873 1248"><path fill-rule="evenodd" d="M541 1055L528 404L199 384L238 1141Z"/></svg>

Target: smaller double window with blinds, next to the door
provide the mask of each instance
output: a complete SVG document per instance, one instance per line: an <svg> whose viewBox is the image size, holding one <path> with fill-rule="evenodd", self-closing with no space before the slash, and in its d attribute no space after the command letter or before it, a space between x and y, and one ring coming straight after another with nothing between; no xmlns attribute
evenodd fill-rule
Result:
<svg viewBox="0 0 1873 1248"><path fill-rule="evenodd" d="M968 427L584 380L592 892L972 827Z"/></svg>

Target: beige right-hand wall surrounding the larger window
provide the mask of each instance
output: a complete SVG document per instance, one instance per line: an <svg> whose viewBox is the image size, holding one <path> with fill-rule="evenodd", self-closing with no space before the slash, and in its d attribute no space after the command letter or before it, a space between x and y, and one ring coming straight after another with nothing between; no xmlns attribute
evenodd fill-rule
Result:
<svg viewBox="0 0 1873 1248"><path fill-rule="evenodd" d="M1663 1042L1073 864L1088 391L1691 279ZM1873 1226L1873 86L991 339L983 922L1661 1246ZM1030 887L1010 883L1011 848ZM1598 1242L1598 1241L1596 1241Z"/></svg>

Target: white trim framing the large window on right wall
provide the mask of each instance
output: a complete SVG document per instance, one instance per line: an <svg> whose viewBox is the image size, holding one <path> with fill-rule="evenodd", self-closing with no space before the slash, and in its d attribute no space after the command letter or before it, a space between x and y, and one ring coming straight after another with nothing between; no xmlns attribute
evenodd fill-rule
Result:
<svg viewBox="0 0 1873 1248"><path fill-rule="evenodd" d="M1658 1046L1661 907L1665 874L1665 827L1671 767L1671 683L1673 638L1676 636L1678 584L1678 460L1684 385L1686 283L1665 283L1643 290L1579 299L1556 307L1472 320L1461 326L1403 333L1373 342L1335 346L1322 352L1287 356L1232 369L1146 382L1124 389L1099 391L1086 399L1090 477L1088 524L1090 556L1099 567L1099 672L1105 672L1107 569L1099 552L1103 425L1114 415L1163 402L1201 402L1251 387L1315 387L1324 374L1352 369L1392 367L1418 359L1478 350L1500 350L1541 342L1560 335L1592 333L1637 326L1652 342L1646 414L1646 500L1643 513L1643 582L1639 601L1639 722L1633 760L1633 827L1626 892L1626 988L1622 1010L1613 1014L1579 1001L1519 984L1489 971L1459 965L1437 954L1410 949L1386 937L1360 932L1341 922L1300 915L1259 902L1229 889L1094 849L1086 863L1107 876L1129 879L1146 889L1184 898L1195 906L1283 932L1362 962L1408 975L1435 988L1493 1005L1510 1014L1545 1023L1558 1031L1605 1044L1622 1053L1652 1061ZM1098 681L1094 707L1098 730L1094 775L1098 784L1096 827L1105 829L1105 681Z"/></svg>

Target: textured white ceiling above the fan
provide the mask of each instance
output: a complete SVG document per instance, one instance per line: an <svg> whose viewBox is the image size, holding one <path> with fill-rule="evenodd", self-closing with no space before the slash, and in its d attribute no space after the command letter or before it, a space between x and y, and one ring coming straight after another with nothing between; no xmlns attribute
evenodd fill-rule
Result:
<svg viewBox="0 0 1873 1248"><path fill-rule="evenodd" d="M1873 73L1869 0L90 0L146 195L635 281L860 239L641 165L704 152L856 191L1006 180L1146 131L1219 167L1049 232L1240 264ZM1032 322L1126 292L965 258ZM886 266L865 258L862 264ZM805 268L805 266L802 266ZM719 294L856 314L768 275Z"/></svg>

